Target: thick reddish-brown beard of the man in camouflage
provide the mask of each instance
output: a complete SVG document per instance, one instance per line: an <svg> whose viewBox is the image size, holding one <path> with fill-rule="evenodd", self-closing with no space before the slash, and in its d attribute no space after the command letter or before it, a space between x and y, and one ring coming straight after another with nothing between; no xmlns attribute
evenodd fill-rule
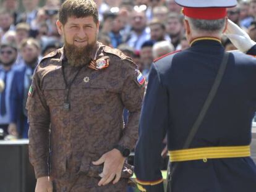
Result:
<svg viewBox="0 0 256 192"><path fill-rule="evenodd" d="M79 48L74 44L69 44L65 41L64 54L67 57L68 64L74 67L82 67L90 64L95 45L96 40L82 48Z"/></svg>

